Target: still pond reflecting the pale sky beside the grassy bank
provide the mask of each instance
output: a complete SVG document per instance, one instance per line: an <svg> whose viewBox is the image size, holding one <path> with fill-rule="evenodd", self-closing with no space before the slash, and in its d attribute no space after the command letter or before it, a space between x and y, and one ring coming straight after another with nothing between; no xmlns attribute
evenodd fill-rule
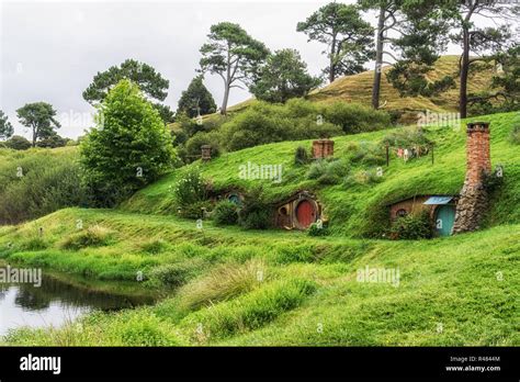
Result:
<svg viewBox="0 0 520 382"><path fill-rule="evenodd" d="M114 284L114 290L121 286ZM110 289L108 283L100 291L99 282L89 285L84 279L72 281L49 274L42 277L39 286L0 282L0 336L21 326L57 327L94 310L109 312L155 302L150 295L106 292Z"/></svg>

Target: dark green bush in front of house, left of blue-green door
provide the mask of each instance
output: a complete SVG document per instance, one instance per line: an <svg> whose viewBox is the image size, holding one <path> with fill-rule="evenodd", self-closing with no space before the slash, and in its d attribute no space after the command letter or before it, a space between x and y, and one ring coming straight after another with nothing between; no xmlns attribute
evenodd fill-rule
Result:
<svg viewBox="0 0 520 382"><path fill-rule="evenodd" d="M387 236L392 239L416 240L431 238L433 227L429 211L398 217L392 223Z"/></svg>

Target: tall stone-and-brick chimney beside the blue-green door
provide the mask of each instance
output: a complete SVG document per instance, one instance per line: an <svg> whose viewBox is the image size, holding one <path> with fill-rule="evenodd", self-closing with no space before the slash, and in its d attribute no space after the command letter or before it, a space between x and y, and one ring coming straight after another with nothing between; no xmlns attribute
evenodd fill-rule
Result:
<svg viewBox="0 0 520 382"><path fill-rule="evenodd" d="M489 123L467 124L466 179L456 205L453 233L476 231L488 207L488 194L484 175L491 172Z"/></svg>

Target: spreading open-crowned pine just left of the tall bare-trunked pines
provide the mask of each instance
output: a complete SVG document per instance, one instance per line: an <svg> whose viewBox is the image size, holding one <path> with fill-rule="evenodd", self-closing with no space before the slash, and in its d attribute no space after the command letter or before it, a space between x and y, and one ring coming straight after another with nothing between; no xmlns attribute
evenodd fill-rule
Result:
<svg viewBox="0 0 520 382"><path fill-rule="evenodd" d="M329 65L324 70L329 82L338 76L363 71L363 64L372 59L374 29L365 22L355 5L331 2L299 22L296 31L304 32L308 41L327 45Z"/></svg>

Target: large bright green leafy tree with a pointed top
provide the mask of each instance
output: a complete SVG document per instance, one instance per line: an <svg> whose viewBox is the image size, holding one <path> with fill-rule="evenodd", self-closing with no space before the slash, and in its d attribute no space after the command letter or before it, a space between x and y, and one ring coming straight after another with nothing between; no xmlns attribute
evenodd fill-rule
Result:
<svg viewBox="0 0 520 382"><path fill-rule="evenodd" d="M80 145L94 204L110 206L171 168L171 137L137 85L121 80L102 102Z"/></svg>

